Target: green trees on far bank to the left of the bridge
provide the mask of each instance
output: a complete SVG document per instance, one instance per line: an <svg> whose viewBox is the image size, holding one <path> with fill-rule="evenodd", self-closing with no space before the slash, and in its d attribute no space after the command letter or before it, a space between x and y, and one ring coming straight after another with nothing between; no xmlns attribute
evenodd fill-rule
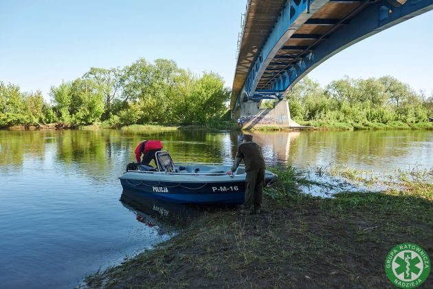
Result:
<svg viewBox="0 0 433 289"><path fill-rule="evenodd" d="M40 91L25 93L0 81L0 127L203 124L227 109L230 89L214 72L197 76L175 61L141 58L123 68L92 67L74 81L52 86L49 96L47 103Z"/></svg>

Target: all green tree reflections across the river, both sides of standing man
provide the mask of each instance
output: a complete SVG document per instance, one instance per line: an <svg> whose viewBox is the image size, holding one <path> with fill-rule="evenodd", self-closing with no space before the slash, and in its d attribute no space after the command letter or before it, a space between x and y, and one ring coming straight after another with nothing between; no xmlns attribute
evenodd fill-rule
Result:
<svg viewBox="0 0 433 289"><path fill-rule="evenodd" d="M254 132L268 164L386 164L397 167L401 156L415 162L431 162L429 131L315 131ZM113 180L135 160L134 149L142 140L162 140L175 162L229 162L236 156L238 132L207 131L0 131L1 170L19 169L25 160L54 154L53 165L97 180ZM423 151L414 151L421 143ZM47 158L47 162L49 160Z"/></svg>

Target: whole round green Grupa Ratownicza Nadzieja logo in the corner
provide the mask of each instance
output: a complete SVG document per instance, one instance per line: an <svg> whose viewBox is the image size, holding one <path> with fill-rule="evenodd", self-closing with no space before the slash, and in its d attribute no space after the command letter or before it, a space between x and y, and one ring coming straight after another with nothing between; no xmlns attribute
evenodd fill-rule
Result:
<svg viewBox="0 0 433 289"><path fill-rule="evenodd" d="M386 256L385 272L399 288L415 288L424 283L430 273L430 259L418 245L403 243Z"/></svg>

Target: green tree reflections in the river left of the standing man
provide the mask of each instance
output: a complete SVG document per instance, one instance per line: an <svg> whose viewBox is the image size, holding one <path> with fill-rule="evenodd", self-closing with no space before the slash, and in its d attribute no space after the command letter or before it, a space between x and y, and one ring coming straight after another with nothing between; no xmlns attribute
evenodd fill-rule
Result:
<svg viewBox="0 0 433 289"><path fill-rule="evenodd" d="M135 161L134 149L142 140L162 140L178 162L221 162L227 133L206 131L126 132L120 130L1 131L0 164L21 166L24 158L44 158L56 150L56 169L95 178L120 175ZM229 140L230 142L230 140ZM47 143L54 143L52 148ZM227 145L225 145L227 147Z"/></svg>

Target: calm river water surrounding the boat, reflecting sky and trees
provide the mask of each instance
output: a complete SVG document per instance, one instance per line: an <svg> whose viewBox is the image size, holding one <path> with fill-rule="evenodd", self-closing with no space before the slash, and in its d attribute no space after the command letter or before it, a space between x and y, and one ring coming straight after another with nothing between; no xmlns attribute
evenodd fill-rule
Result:
<svg viewBox="0 0 433 289"><path fill-rule="evenodd" d="M433 131L253 133L267 164L373 171L433 164ZM238 133L0 131L0 288L68 288L167 239L119 201L140 140L178 162L231 162Z"/></svg>

